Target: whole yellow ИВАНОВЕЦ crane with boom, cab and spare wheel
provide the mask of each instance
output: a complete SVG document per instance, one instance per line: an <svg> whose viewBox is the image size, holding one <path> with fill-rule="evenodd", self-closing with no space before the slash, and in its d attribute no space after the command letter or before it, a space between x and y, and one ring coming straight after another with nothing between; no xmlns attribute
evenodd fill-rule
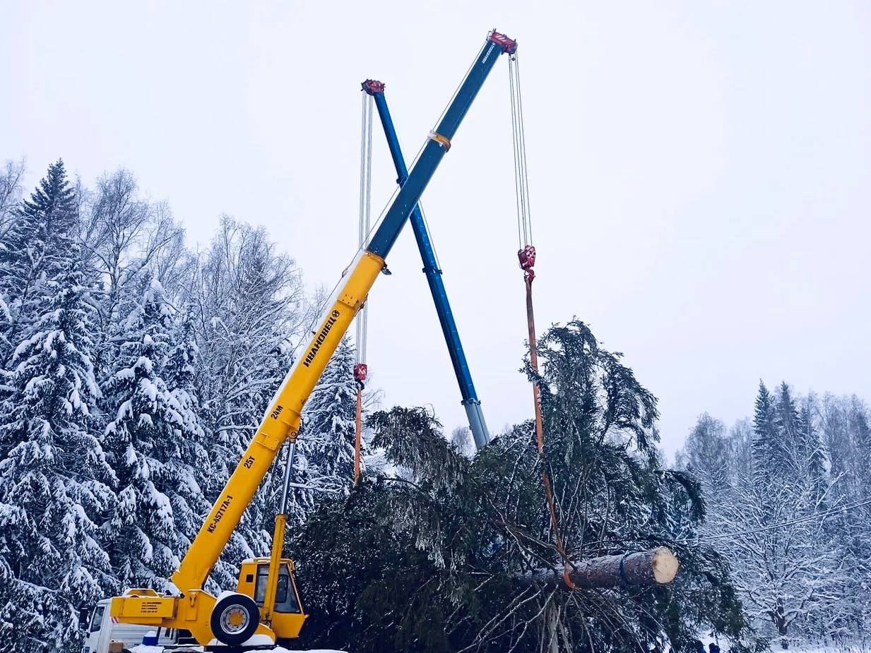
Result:
<svg viewBox="0 0 871 653"><path fill-rule="evenodd" d="M112 619L121 623L189 630L203 645L275 643L299 636L306 615L294 581L294 563L281 557L281 553L287 523L287 493L302 407L314 384L321 378L327 360L366 300L378 273L386 270L388 252L449 150L451 138L454 138L496 59L503 52L513 54L515 50L517 43L509 37L495 30L488 35L442 120L436 130L430 132L408 180L396 195L369 245L357 253L343 281L327 302L320 327L281 384L239 465L191 542L179 569L172 574L172 583L178 593L163 595L153 589L128 589L123 596L111 599ZM279 514L275 518L271 555L242 562L236 590L212 596L203 589L206 578L285 442L289 443L287 467Z"/></svg>

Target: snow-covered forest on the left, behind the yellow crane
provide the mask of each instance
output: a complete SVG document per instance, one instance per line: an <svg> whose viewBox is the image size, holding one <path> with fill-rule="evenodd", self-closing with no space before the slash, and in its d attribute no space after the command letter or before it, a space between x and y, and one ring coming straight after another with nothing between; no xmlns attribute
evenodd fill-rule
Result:
<svg viewBox="0 0 871 653"><path fill-rule="evenodd" d="M23 173L0 177L0 650L78 652L80 606L169 589L312 311L263 229L223 218L194 253L129 172L89 189L57 161L29 197ZM344 343L307 407L313 488L351 475L352 362ZM248 508L213 590L267 552L274 503Z"/></svg>

